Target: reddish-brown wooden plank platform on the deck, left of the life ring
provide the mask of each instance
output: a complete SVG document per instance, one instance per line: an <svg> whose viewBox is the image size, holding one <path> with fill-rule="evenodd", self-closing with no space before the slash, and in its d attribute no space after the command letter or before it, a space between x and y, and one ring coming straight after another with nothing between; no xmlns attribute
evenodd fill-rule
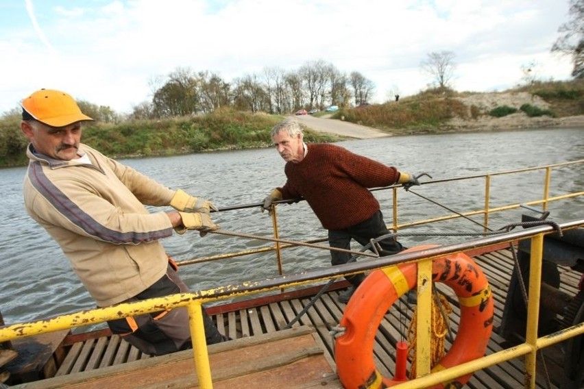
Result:
<svg viewBox="0 0 584 389"><path fill-rule="evenodd" d="M298 327L209 347L214 388L341 388L313 330ZM38 381L29 389L197 388L192 351ZM235 377L241 376L240 379Z"/></svg>

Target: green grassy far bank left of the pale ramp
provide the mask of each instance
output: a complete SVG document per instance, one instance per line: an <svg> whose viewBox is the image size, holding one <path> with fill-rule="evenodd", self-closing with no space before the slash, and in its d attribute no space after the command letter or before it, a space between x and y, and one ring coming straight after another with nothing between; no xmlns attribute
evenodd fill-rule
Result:
<svg viewBox="0 0 584 389"><path fill-rule="evenodd" d="M112 158L141 158L271 146L271 129L282 116L218 110L205 116L123 123L84 123L82 142ZM24 166L26 138L18 115L0 121L0 167ZM338 137L306 130L308 142Z"/></svg>

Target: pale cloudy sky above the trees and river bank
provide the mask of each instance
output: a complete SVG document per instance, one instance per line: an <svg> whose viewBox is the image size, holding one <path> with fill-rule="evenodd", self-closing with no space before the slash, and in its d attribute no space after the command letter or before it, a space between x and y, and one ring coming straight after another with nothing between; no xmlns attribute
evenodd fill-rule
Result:
<svg viewBox="0 0 584 389"><path fill-rule="evenodd" d="M178 68L225 81L324 61L415 95L429 53L454 53L452 87L492 92L570 79L551 53L568 0L0 0L0 114L40 88L119 113ZM160 86L160 84L158 84Z"/></svg>

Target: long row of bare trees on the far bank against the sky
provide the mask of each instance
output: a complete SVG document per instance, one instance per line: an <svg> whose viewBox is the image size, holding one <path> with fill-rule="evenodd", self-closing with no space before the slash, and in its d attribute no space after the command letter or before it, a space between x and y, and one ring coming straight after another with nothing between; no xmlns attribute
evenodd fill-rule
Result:
<svg viewBox="0 0 584 389"><path fill-rule="evenodd" d="M286 114L301 108L328 105L351 107L367 102L375 84L358 71L339 71L323 60L306 62L297 70L265 68L231 82L210 71L177 68L162 81L150 82L151 101L132 108L131 118L167 118L209 114L219 108Z"/></svg>

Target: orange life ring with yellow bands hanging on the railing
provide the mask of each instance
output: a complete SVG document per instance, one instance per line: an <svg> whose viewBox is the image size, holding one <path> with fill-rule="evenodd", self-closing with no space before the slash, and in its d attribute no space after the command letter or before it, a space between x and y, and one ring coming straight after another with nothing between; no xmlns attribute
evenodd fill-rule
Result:
<svg viewBox="0 0 584 389"><path fill-rule="evenodd" d="M432 247L437 246L412 247L403 252ZM483 271L463 253L433 260L432 276L435 282L442 282L454 290L461 307L457 336L448 353L432 369L439 371L485 355L493 329L494 301ZM345 328L345 334L337 338L334 346L337 373L345 389L386 388L400 383L383 377L376 369L374 338L387 310L416 284L417 266L410 263L373 271L355 290L339 323ZM435 388L460 388L471 375Z"/></svg>

